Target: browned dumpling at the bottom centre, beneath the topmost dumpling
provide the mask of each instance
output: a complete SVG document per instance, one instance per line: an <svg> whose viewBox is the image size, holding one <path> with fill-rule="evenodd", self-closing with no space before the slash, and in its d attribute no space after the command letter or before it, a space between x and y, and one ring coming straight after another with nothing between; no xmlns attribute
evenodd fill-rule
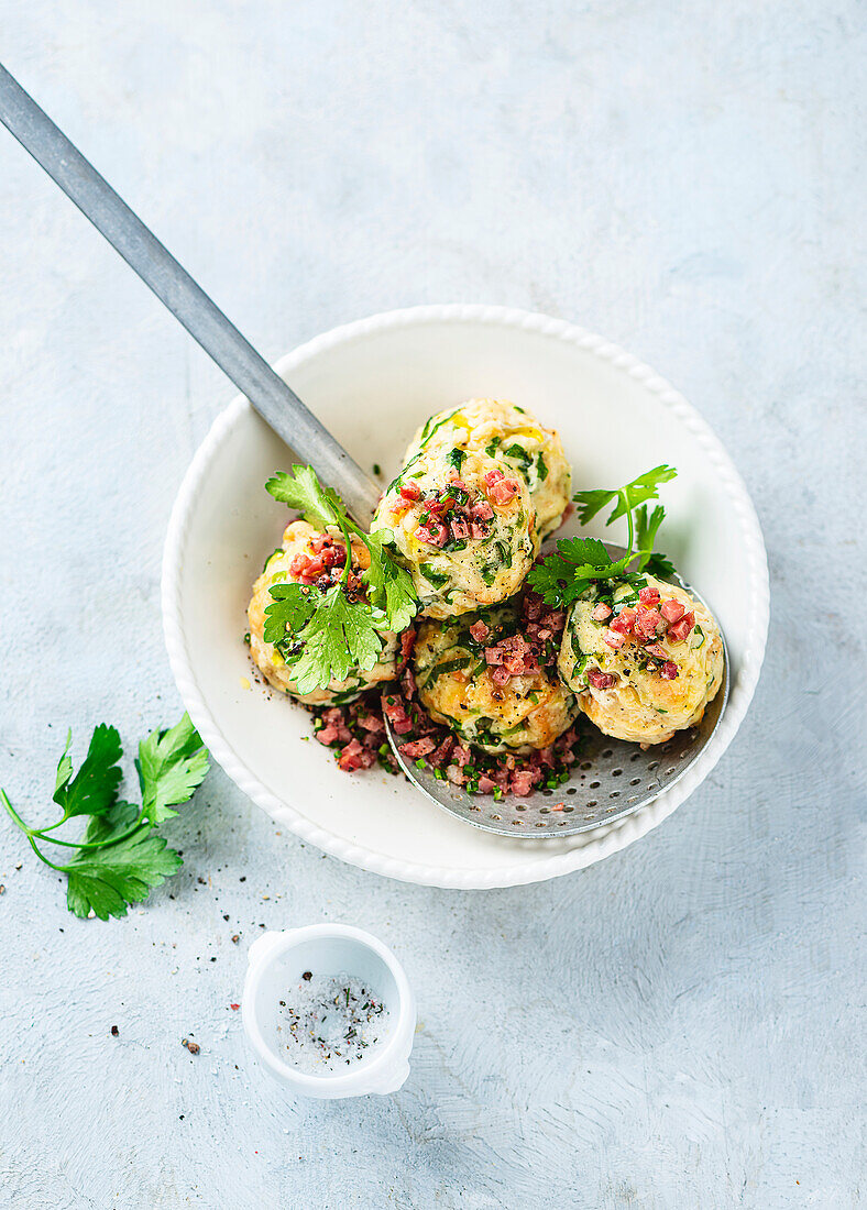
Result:
<svg viewBox="0 0 867 1210"><path fill-rule="evenodd" d="M436 722L486 751L550 748L578 714L557 679L556 652L553 632L528 624L517 600L424 622L413 656L419 699Z"/></svg>

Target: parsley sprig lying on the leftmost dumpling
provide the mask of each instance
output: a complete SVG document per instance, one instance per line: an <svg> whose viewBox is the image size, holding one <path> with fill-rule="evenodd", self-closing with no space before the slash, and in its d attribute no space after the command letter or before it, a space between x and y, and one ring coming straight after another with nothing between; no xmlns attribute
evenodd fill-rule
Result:
<svg viewBox="0 0 867 1210"><path fill-rule="evenodd" d="M309 466L281 471L265 484L275 500L297 509L311 525L338 528L346 543L340 581L322 592L312 584L271 586L274 604L265 610L264 639L275 644L292 667L302 693L346 680L354 669L373 668L383 650L380 630L404 630L419 601L410 576L384 546L383 534L366 534L344 508L337 492L325 488ZM362 572L367 600L344 592L351 569L351 537L367 547L371 565Z"/></svg>

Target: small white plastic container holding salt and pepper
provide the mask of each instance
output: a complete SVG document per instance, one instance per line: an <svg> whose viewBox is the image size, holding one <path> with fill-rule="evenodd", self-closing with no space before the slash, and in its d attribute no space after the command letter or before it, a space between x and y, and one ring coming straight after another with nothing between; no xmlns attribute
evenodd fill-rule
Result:
<svg viewBox="0 0 867 1210"><path fill-rule="evenodd" d="M355 975L389 1010L389 1035L349 1071L300 1071L287 1062L285 1036L277 1032L286 999L305 970L331 978ZM309 924L264 933L249 947L242 1001L247 1041L265 1070L299 1096L334 1100L396 1093L409 1074L415 1035L415 997L391 950L351 924Z"/></svg>

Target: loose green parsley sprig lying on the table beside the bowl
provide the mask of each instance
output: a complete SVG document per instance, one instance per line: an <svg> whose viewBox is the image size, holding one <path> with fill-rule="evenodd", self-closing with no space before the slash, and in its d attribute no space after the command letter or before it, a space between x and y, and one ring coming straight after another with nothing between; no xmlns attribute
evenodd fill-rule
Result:
<svg viewBox="0 0 867 1210"><path fill-rule="evenodd" d="M151 887L171 877L182 865L179 853L166 846L155 829L177 816L172 809L193 797L208 771L208 753L184 714L168 731L154 731L138 745L142 806L119 799L122 778L120 736L101 722L91 737L87 755L73 777L69 756L71 732L67 736L57 766L53 801L63 814L45 828L29 828L0 790L0 801L27 836L36 857L52 870L67 875L67 905L76 916L93 912L99 920L126 916L130 904L148 898ZM56 832L69 819L86 817L87 826L77 841ZM40 845L76 849L71 860L56 864Z"/></svg>

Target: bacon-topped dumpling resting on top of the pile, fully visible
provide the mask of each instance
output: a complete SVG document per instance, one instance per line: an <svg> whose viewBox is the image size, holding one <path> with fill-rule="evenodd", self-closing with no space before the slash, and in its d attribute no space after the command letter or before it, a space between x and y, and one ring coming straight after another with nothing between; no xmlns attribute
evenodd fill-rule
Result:
<svg viewBox="0 0 867 1210"><path fill-rule="evenodd" d="M431 445L404 466L371 531L409 571L427 617L493 605L518 590L539 553L526 482L484 453Z"/></svg>

